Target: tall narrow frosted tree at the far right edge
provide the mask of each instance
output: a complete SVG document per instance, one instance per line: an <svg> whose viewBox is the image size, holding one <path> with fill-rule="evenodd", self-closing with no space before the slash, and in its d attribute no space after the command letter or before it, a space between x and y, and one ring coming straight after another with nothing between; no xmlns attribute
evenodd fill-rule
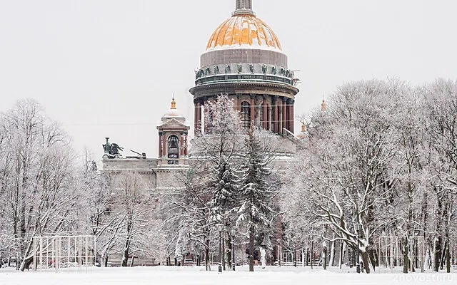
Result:
<svg viewBox="0 0 457 285"><path fill-rule="evenodd" d="M433 241L433 269L443 269L446 263L449 272L451 229L456 220L457 82L438 79L421 88L420 92L429 135L426 167L428 199L431 199L428 203L432 202L434 206L434 213L429 217L435 218L429 229Z"/></svg>

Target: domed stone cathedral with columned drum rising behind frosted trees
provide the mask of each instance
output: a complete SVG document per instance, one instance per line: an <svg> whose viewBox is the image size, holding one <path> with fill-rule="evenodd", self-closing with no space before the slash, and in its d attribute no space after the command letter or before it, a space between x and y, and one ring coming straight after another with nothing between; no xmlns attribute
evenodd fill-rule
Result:
<svg viewBox="0 0 457 285"><path fill-rule="evenodd" d="M254 124L270 131L280 142L274 163L290 162L298 142L293 134L298 78L288 69L287 56L276 34L254 14L252 0L236 0L232 16L210 36L200 66L195 72L195 86L189 90L194 96L195 134L205 133L206 103L228 94L241 115L243 128ZM103 170L111 175L134 172L153 190L175 190L179 187L176 175L193 159L189 129L188 120L178 112L173 99L157 126L159 157L122 157L117 149L111 152L110 146L115 144L107 138Z"/></svg>

